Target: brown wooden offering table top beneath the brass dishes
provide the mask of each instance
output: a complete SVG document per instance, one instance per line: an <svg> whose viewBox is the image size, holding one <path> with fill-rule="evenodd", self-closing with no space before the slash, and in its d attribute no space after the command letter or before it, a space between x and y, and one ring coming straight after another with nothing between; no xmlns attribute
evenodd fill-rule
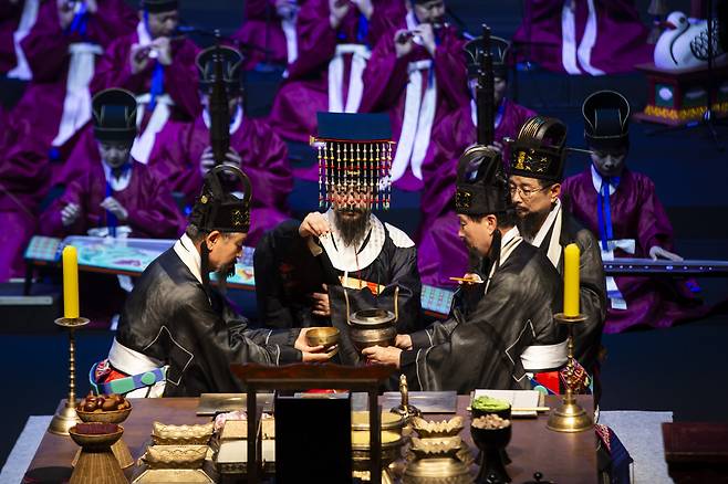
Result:
<svg viewBox="0 0 728 484"><path fill-rule="evenodd" d="M578 396L579 403L592 412L591 396ZM379 397L379 400L382 398ZM545 404L555 408L560 397L547 397ZM149 443L152 422L160 421L169 424L207 423L209 417L198 417L196 410L199 403L197 398L160 398L160 399L131 399L133 410L129 418L122 424L124 427L124 441L128 444L134 459L144 453ZM470 414L467 410L470 398L458 397L457 414L466 420L466 429L460 433L462 440L470 448L474 456L478 449L470 436ZM60 406L65 404L61 401ZM388 409L383 409L388 410ZM427 420L444 420L453 414L425 414ZM511 464L507 466L513 483L533 480L533 473L543 474L543 480L559 484L585 484L597 482L596 472L596 438L593 430L579 433L559 433L547 429L547 414L538 419L514 419L513 434L508 445L508 455ZM27 483L65 482L71 476L71 462L79 446L69 436L45 433L38 448L25 478ZM472 466L474 477L477 466ZM131 480L138 473L135 466L125 471Z"/></svg>

